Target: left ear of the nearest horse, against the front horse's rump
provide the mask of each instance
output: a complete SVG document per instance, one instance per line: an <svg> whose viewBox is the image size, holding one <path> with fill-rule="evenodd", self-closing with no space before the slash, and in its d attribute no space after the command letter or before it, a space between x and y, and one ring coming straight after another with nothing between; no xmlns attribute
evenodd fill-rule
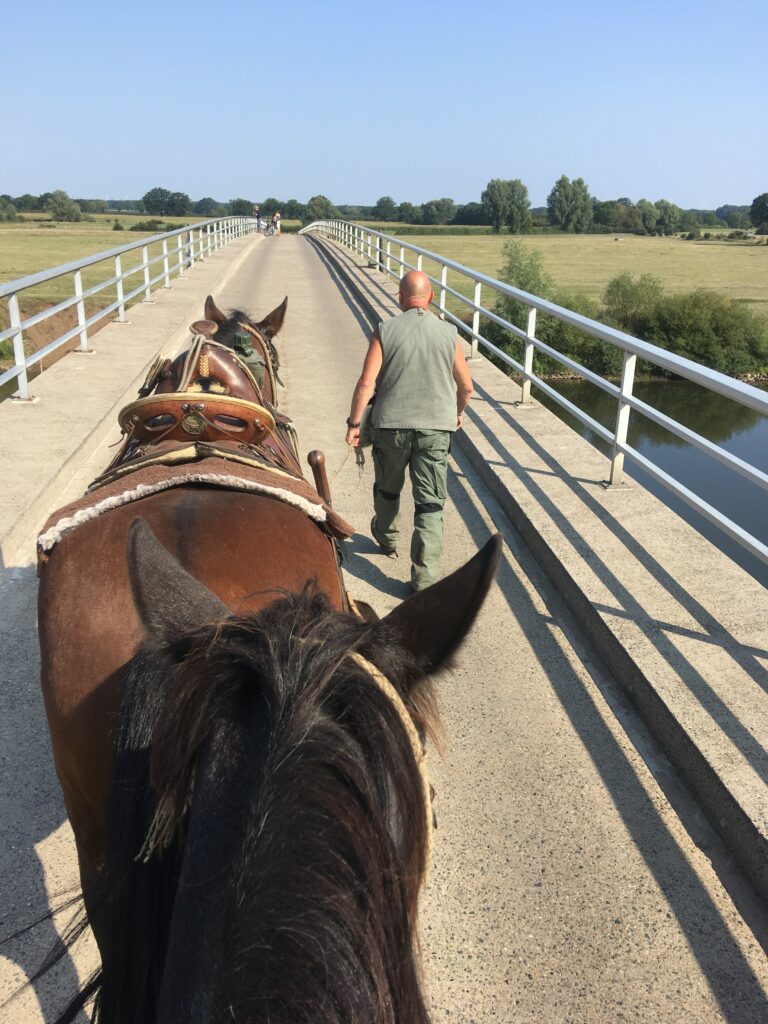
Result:
<svg viewBox="0 0 768 1024"><path fill-rule="evenodd" d="M204 584L190 575L143 519L128 529L128 579L133 603L147 636L158 642L231 612Z"/></svg>

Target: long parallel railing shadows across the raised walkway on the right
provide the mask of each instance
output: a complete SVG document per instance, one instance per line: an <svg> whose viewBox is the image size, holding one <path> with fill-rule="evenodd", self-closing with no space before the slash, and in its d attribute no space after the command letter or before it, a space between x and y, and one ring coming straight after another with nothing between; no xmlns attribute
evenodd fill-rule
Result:
<svg viewBox="0 0 768 1024"><path fill-rule="evenodd" d="M570 487L586 508L589 509L590 513L610 529L616 540L631 552L633 557L653 575L654 580L701 627L700 633L697 631L688 631L685 635L712 644L727 653L757 686L768 692L768 672L766 672L758 659L761 656L768 657L768 651L756 649L755 647L738 642L727 629L713 617L699 601L689 594L659 564L653 555L632 536L609 510L595 501L589 490L583 486L581 480L568 474L557 458L544 449L519 420L515 419L496 402L482 387L476 385L476 392L478 397L486 401L497 415L504 420L505 424L514 430L524 440L525 444L551 468L553 475L556 475ZM514 470L520 484L528 489L573 549L583 554L584 541L579 530L538 485L535 474L520 465L483 422L476 409L473 410L470 407L469 416L485 440L499 454L501 465ZM541 475L541 472L539 475ZM665 635L665 631L670 630L669 624L650 617L637 598L625 587L611 568L601 560L599 554L594 550L590 550L589 554L590 568L606 589L613 594L617 602L617 607L603 605L601 607L603 613L629 618L642 630L665 660L680 675L680 678L684 681L690 692L715 720L718 727L723 730L731 742L748 759L755 772L760 775L763 781L768 782L768 759L766 758L768 751L766 751L765 745L736 718L697 669L671 643Z"/></svg>

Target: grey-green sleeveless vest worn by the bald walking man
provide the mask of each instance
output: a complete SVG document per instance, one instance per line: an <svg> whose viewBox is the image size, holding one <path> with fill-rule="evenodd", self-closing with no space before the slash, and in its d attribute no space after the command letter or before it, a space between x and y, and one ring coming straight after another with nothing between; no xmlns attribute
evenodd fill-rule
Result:
<svg viewBox="0 0 768 1024"><path fill-rule="evenodd" d="M379 325L384 361L376 383L379 429L456 430L456 328L428 309Z"/></svg>

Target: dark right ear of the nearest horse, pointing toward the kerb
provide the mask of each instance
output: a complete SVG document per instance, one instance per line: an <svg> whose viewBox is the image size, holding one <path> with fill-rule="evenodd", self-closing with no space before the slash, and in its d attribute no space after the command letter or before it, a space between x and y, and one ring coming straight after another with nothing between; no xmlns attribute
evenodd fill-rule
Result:
<svg viewBox="0 0 768 1024"><path fill-rule="evenodd" d="M487 596L501 550L502 538L496 534L466 565L414 594L382 620L424 672L445 668L461 647Z"/></svg>

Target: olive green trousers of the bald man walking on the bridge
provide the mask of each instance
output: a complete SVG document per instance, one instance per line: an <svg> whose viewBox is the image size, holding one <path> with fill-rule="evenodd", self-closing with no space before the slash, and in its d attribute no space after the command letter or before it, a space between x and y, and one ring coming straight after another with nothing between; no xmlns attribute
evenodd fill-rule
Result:
<svg viewBox="0 0 768 1024"><path fill-rule="evenodd" d="M442 510L447 494L450 430L373 431L374 512L376 540L396 550L400 492L406 470L416 506L411 539L411 586L423 590L439 575Z"/></svg>

